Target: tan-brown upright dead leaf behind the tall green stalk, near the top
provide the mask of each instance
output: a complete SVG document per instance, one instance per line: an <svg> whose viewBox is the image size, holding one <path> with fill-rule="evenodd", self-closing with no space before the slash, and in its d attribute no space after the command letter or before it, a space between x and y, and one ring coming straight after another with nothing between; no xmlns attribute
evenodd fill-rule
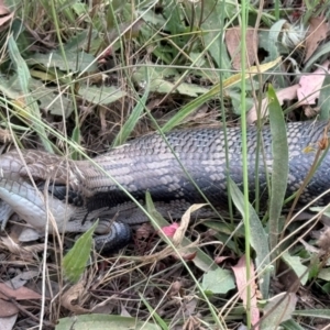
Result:
<svg viewBox="0 0 330 330"><path fill-rule="evenodd" d="M224 35L226 45L228 53L230 54L230 57L232 59L232 66L234 69L239 70L241 69L241 28L234 26L231 29L228 29L226 31ZM257 34L255 33L255 29L250 26L246 30L246 57L245 63L246 66L250 67L255 63L255 56L258 47L258 40Z"/></svg>

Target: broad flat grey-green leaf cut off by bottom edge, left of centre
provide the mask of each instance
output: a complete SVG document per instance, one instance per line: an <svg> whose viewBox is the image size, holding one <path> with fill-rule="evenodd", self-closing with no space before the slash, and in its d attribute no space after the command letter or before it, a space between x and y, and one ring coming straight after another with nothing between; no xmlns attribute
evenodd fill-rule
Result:
<svg viewBox="0 0 330 330"><path fill-rule="evenodd" d="M143 330L161 330L157 324L139 321L136 318L121 317L118 315L105 315L105 314L89 314L78 315L70 318L59 319L56 330L129 330L129 329L143 329Z"/></svg>

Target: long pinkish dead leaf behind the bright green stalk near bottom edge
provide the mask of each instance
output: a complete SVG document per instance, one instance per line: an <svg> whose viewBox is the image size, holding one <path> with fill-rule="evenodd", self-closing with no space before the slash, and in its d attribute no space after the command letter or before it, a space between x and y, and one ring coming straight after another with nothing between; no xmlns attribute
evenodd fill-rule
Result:
<svg viewBox="0 0 330 330"><path fill-rule="evenodd" d="M234 277L237 280L237 285L238 285L238 290L239 290L239 296L241 297L241 299L243 300L243 306L246 308L246 286L248 286L248 280L246 280L246 263L245 263L245 256L241 256L241 258L239 260L238 264L233 267L231 267L233 273L234 273ZM251 263L250 265L250 274L254 274L254 266L253 263ZM257 296L257 292L256 292L256 284L255 282L252 282L251 284L251 316L252 316L252 324L256 324L260 321L260 311L258 308L256 306L256 296ZM254 328L255 330L258 330L258 327L256 326Z"/></svg>

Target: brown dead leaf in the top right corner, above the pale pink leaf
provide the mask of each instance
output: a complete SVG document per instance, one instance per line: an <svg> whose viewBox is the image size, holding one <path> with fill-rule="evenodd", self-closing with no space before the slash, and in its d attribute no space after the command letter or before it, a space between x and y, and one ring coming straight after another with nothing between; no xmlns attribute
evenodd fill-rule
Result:
<svg viewBox="0 0 330 330"><path fill-rule="evenodd" d="M306 38L306 63L319 46L320 42L327 37L329 25L324 18L312 18L309 20L309 30Z"/></svg>

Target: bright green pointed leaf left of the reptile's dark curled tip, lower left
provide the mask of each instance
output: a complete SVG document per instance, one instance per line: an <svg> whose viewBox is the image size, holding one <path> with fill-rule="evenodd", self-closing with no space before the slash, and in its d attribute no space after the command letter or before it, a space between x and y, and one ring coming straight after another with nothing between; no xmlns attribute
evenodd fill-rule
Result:
<svg viewBox="0 0 330 330"><path fill-rule="evenodd" d="M74 248L63 258L64 274L72 283L77 283L86 268L97 226L98 221L76 241Z"/></svg>

